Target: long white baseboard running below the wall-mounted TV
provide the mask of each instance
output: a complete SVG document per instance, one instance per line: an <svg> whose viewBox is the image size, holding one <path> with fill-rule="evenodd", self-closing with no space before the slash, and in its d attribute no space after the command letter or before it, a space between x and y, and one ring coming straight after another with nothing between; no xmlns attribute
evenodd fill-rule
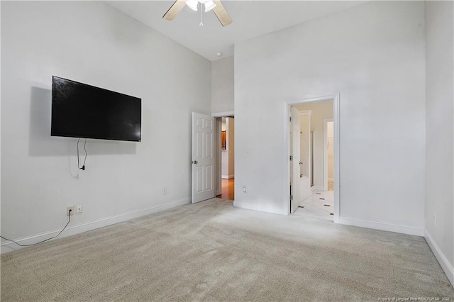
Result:
<svg viewBox="0 0 454 302"><path fill-rule="evenodd" d="M80 233L87 232L89 230L94 230L96 228L103 228L107 225L113 225L115 223L121 223L126 220L133 218L138 218L140 216L145 216L152 213L157 213L160 211L167 210L169 208L175 208L176 206L182 206L184 204L191 203L190 198L185 198L179 201L172 201L170 203L160 204L158 206L153 206L151 208L145 208L143 210L132 211L129 213L123 213L117 216L111 216L106 218L101 218L99 220L91 221L88 223L81 223L79 225L70 226L66 228L58 238L68 237L72 235L77 235ZM60 230L52 230L47 233L33 235L26 238L14 239L14 241L21 243L23 245L33 244L34 242L39 242L45 240L49 237L55 236L60 232ZM6 252L12 252L13 250L20 250L23 247L16 245L14 242L4 242L0 245L1 254Z"/></svg>

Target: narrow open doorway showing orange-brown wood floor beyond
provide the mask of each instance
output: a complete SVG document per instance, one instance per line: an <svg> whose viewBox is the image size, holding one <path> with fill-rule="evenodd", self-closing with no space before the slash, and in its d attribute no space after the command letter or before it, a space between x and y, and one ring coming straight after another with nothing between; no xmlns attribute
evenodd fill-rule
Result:
<svg viewBox="0 0 454 302"><path fill-rule="evenodd" d="M223 116L220 122L219 142L219 191L216 197L229 201L235 199L235 118Z"/></svg>

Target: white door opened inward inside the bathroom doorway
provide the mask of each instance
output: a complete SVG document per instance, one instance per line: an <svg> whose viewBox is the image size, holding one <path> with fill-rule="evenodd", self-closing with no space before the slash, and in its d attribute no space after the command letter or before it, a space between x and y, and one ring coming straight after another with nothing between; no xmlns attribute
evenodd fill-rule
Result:
<svg viewBox="0 0 454 302"><path fill-rule="evenodd" d="M291 147L290 147L290 213L297 211L299 203L301 202L300 198L300 188L299 188L299 179L300 179L300 169L299 161L301 157L300 152L300 121L299 121L299 111L294 106L291 107L290 116L292 117L292 122L290 123L290 138Z"/></svg>

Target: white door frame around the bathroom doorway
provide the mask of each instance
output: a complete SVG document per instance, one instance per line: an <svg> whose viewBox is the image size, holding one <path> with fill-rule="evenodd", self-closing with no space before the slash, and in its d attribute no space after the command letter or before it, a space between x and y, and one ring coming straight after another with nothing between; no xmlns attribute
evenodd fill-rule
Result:
<svg viewBox="0 0 454 302"><path fill-rule="evenodd" d="M339 216L340 216L340 189L341 189L341 173L340 173L340 150L339 145L341 141L341 135L339 135L339 125L340 125L340 114L339 114L339 101L340 101L340 94L331 94L326 96L315 96L311 98L304 98L297 101L290 101L284 104L285 106L285 117L284 117L284 147L286 150L286 154L290 154L289 150L289 118L290 118L290 106L297 105L297 104L305 104L305 103L314 103L317 101L333 101L333 120L334 120L334 208L333 208L333 220L335 223L339 223ZM287 206L287 214L290 214L290 203L288 202L290 196L290 161L289 157L284 164L285 170L285 179L284 179L284 196L283 199L285 205Z"/></svg>

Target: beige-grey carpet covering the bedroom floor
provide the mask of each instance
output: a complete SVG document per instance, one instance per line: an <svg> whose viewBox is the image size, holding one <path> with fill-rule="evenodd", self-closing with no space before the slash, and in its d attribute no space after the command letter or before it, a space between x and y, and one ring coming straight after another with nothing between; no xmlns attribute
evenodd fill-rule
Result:
<svg viewBox="0 0 454 302"><path fill-rule="evenodd" d="M454 301L423 237L217 198L1 255L1 301L418 297Z"/></svg>

